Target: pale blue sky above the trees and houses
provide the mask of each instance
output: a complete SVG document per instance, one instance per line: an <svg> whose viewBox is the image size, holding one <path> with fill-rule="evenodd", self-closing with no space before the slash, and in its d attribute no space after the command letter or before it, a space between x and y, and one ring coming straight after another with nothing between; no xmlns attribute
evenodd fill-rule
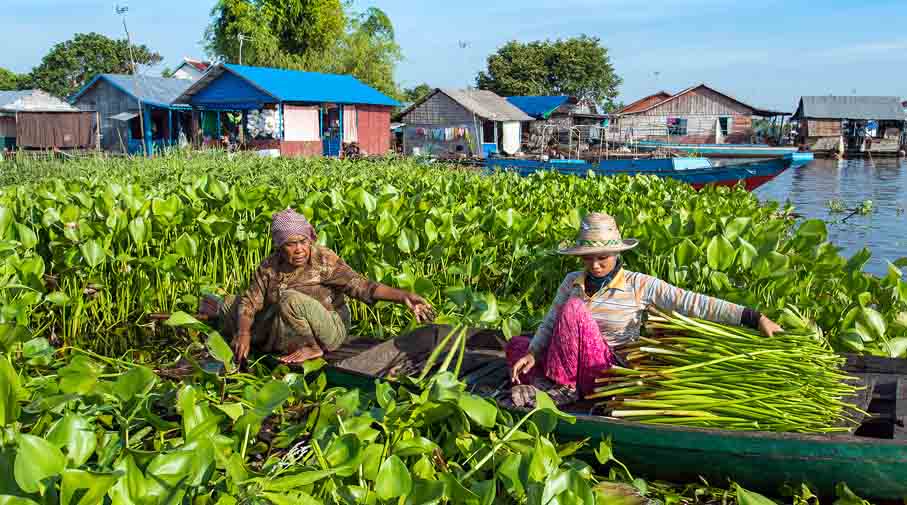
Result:
<svg viewBox="0 0 907 505"><path fill-rule="evenodd" d="M201 56L213 0L129 5L133 38L165 57ZM120 36L114 1L5 0L0 66L28 71L76 32ZM594 35L629 103L706 82L753 105L791 110L800 95L907 96L903 0L356 0L384 9L405 60L403 85L465 86L508 40ZM466 42L460 48L458 42ZM657 76L656 76L657 72Z"/></svg>

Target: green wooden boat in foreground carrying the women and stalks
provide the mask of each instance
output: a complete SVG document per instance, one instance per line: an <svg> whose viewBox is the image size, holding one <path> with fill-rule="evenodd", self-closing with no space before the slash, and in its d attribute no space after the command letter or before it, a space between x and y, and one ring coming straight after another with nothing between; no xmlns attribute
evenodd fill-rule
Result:
<svg viewBox="0 0 907 505"><path fill-rule="evenodd" d="M328 380L372 389L376 378L412 374L446 331L430 326L383 343L354 341L326 356L331 364ZM494 332L470 336L461 379L472 392L494 399L509 396L502 343ZM785 483L805 482L822 496L833 496L835 485L846 482L863 497L905 498L907 432L898 422L907 416L907 361L859 356L849 358L847 368L868 386L854 401L873 412L855 434L656 426L595 415L583 404L564 408L576 416L576 423L560 424L557 434L564 440L591 438L593 443L611 436L615 455L634 474L650 479L692 482L702 476L717 485L733 479L768 494L777 493Z"/></svg>

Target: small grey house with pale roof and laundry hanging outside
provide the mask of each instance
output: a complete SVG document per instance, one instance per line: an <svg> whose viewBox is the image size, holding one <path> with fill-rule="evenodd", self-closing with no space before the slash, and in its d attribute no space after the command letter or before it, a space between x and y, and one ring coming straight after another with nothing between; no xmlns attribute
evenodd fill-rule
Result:
<svg viewBox="0 0 907 505"><path fill-rule="evenodd" d="M533 118L491 91L438 88L395 120L405 124L404 154L487 157L518 153L521 123Z"/></svg>

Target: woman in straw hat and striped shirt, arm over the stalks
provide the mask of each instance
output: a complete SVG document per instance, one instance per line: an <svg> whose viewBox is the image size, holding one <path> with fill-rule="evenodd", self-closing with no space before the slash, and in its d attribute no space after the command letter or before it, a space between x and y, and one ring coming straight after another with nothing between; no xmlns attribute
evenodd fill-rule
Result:
<svg viewBox="0 0 907 505"><path fill-rule="evenodd" d="M576 242L558 251L582 258L585 270L567 274L531 340L516 337L507 344L515 405L531 405L535 388L548 390L560 404L590 392L595 377L614 360L611 349L639 337L649 307L749 326L767 336L781 331L753 309L624 269L620 253L638 243L621 238L611 216L592 213L583 219Z"/></svg>

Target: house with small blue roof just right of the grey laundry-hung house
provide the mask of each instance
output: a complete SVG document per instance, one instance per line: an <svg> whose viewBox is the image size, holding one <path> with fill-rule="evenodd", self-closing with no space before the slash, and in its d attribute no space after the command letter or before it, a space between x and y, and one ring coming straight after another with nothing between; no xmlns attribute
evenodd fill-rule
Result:
<svg viewBox="0 0 907 505"><path fill-rule="evenodd" d="M523 124L523 145L533 152L552 144L576 145L579 151L600 143L608 115L589 99L574 96L511 96L507 101L532 116Z"/></svg>

